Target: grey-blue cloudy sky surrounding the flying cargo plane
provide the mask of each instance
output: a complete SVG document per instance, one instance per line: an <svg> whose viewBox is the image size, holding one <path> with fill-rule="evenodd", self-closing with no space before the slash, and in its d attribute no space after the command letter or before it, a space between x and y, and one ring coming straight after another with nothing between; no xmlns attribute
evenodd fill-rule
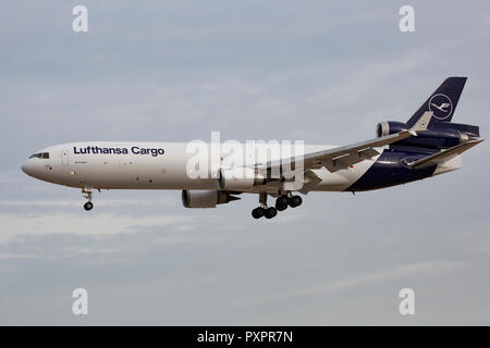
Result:
<svg viewBox="0 0 490 348"><path fill-rule="evenodd" d="M489 41L488 1L2 1L0 324L490 324L487 142L461 171L271 221L256 197L199 211L177 191L96 192L87 213L20 170L76 140L346 145L448 76L469 77L453 120L485 137Z"/></svg>

